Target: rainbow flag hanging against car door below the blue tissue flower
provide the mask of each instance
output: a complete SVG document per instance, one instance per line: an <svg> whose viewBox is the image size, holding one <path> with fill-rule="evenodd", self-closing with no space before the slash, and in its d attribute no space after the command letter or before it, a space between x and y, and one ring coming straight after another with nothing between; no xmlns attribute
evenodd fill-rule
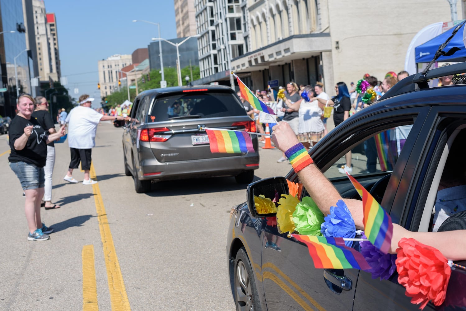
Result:
<svg viewBox="0 0 466 311"><path fill-rule="evenodd" d="M343 237L317 237L292 234L296 240L306 244L316 269L370 269L364 256L348 247Z"/></svg>

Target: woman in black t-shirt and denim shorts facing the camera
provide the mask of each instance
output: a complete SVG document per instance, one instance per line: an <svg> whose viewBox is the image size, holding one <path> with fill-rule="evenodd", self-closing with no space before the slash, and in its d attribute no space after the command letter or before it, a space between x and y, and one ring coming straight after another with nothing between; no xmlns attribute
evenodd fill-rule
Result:
<svg viewBox="0 0 466 311"><path fill-rule="evenodd" d="M24 210L26 212L29 241L48 239L53 231L41 221L41 200L44 195L44 166L47 158L47 143L65 135L62 126L58 133L49 134L31 115L34 111L34 99L30 95L21 95L16 105L18 115L9 127L10 167L18 176L26 195Z"/></svg>

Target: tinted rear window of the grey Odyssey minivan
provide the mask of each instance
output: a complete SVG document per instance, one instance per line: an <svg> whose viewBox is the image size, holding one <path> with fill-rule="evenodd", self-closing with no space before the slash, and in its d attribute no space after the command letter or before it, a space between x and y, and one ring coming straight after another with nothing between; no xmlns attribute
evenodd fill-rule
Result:
<svg viewBox="0 0 466 311"><path fill-rule="evenodd" d="M246 115L246 111L236 95L227 92L207 91L157 97L152 105L149 119L152 122L163 122L176 119L234 115Z"/></svg>

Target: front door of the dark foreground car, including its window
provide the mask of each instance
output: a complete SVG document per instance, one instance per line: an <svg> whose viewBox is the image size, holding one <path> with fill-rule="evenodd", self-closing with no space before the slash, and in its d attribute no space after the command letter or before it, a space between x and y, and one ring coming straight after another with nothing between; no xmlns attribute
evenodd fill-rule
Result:
<svg viewBox="0 0 466 311"><path fill-rule="evenodd" d="M315 146L317 149L312 150L311 156L343 197L359 198L349 179L338 171L340 162L344 163L344 155L353 149L352 175L370 189L382 177L390 176L390 165L394 164L399 156L397 141L391 140L391 137L395 137L396 126L411 128L418 113L417 109L411 109L397 118L394 117L395 112L390 112L367 120L361 119L360 122L347 122L346 128L329 133L328 139ZM414 130L417 131L421 123L415 124ZM369 149L364 148L372 142L383 144L385 150L394 147L390 149L393 153L391 163L380 161L381 155L377 155L377 150L370 154ZM401 144L404 142L403 140ZM403 151L409 153L411 147L404 144ZM371 156L378 161L377 172L367 173ZM293 179L292 176L290 178ZM264 237L262 278L267 310L353 310L359 270L315 269L308 248L304 244L285 234L279 234L273 226L266 227Z"/></svg>

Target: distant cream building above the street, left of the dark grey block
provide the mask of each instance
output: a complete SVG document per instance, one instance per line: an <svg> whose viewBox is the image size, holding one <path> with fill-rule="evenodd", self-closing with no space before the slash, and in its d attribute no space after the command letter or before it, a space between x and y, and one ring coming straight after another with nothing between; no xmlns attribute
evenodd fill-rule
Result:
<svg viewBox="0 0 466 311"><path fill-rule="evenodd" d="M115 54L106 60L98 61L100 96L110 95L118 85L118 71L132 64L130 54Z"/></svg>

